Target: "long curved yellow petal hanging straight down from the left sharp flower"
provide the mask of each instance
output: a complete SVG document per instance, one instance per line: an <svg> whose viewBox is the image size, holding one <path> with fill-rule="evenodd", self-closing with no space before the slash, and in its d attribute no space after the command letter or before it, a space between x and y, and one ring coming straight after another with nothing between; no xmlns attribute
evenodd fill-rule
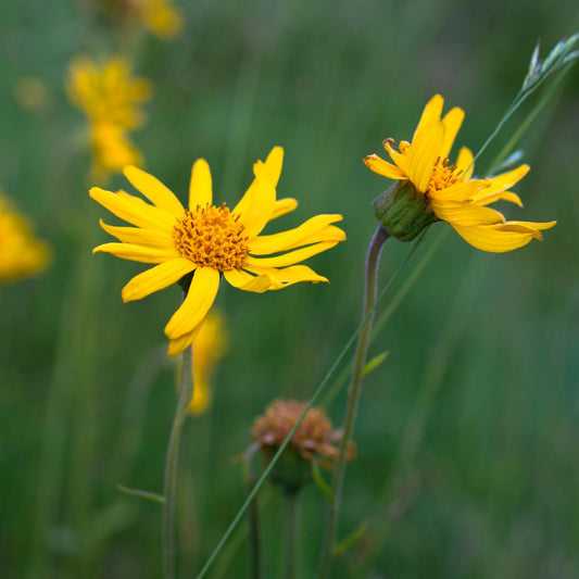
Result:
<svg viewBox="0 0 579 579"><path fill-rule="evenodd" d="M198 267L185 301L165 326L172 340L193 331L203 320L215 301L219 288L219 272L211 267Z"/></svg>

